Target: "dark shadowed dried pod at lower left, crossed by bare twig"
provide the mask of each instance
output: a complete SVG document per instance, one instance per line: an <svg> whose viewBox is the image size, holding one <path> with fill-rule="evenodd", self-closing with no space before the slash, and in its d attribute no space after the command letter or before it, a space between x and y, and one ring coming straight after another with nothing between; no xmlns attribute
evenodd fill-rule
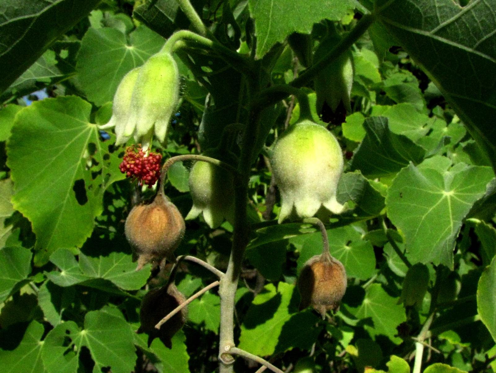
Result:
<svg viewBox="0 0 496 373"><path fill-rule="evenodd" d="M163 323L160 329L156 329L155 325L185 301L186 298L173 283L146 293L139 310L141 326L138 333L148 334L148 347L158 337L165 346L172 348L172 337L186 323L187 307Z"/></svg>

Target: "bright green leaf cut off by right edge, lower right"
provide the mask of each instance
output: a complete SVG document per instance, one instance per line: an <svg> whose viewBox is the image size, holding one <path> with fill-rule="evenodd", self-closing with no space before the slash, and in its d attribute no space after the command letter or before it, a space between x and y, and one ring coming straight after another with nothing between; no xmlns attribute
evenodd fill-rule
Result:
<svg viewBox="0 0 496 373"><path fill-rule="evenodd" d="M484 269L477 285L477 311L496 341L496 257Z"/></svg>

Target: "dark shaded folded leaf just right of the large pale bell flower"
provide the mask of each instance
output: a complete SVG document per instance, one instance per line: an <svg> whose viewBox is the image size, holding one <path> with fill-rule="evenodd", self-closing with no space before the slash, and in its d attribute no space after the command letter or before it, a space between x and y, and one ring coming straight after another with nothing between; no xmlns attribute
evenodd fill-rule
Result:
<svg viewBox="0 0 496 373"><path fill-rule="evenodd" d="M366 177L376 178L394 174L409 162L418 164L424 159L424 149L409 138L392 133L387 118L367 118L364 127L367 135L351 160L352 171L360 170Z"/></svg>

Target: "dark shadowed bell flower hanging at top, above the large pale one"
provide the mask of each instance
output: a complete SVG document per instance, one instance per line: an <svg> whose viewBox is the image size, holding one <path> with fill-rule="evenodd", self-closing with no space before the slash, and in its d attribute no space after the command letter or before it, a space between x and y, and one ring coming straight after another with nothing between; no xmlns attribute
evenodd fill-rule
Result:
<svg viewBox="0 0 496 373"><path fill-rule="evenodd" d="M315 60L330 51L337 41L336 38L323 41L315 51ZM347 51L317 74L314 80L315 92L317 93L317 113L322 111L324 102L327 102L333 113L338 110L340 103L348 114L351 113L350 95L353 86L353 73L352 55L350 51Z"/></svg>

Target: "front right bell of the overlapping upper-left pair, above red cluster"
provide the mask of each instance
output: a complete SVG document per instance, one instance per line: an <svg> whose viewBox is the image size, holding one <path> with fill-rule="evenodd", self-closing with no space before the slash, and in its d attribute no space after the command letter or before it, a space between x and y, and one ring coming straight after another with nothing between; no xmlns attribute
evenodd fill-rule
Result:
<svg viewBox="0 0 496 373"><path fill-rule="evenodd" d="M139 68L134 85L124 137L134 136L143 148L153 133L164 141L171 116L179 101L179 71L168 53L148 59ZM140 141L144 139L144 141Z"/></svg>

